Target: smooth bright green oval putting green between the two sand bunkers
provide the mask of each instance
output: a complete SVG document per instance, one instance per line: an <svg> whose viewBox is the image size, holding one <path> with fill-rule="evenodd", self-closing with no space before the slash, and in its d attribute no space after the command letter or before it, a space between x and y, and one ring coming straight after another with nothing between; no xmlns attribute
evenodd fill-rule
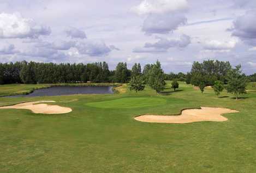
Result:
<svg viewBox="0 0 256 173"><path fill-rule="evenodd" d="M164 98L154 97L129 97L116 100L87 103L87 106L96 108L139 108L139 107L156 107L165 104Z"/></svg>

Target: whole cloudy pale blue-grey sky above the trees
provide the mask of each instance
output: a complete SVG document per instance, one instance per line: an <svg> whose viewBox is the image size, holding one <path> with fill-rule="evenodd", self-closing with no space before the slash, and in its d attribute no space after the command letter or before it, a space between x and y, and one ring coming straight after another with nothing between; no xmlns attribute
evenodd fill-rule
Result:
<svg viewBox="0 0 256 173"><path fill-rule="evenodd" d="M0 61L142 66L194 61L256 72L255 0L0 0Z"/></svg>

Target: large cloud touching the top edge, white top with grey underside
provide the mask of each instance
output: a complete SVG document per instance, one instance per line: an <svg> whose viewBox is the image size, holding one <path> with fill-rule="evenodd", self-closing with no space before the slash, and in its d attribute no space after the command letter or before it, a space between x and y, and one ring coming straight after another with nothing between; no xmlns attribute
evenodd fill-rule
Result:
<svg viewBox="0 0 256 173"><path fill-rule="evenodd" d="M184 12L187 9L186 0L144 0L132 8L132 11L147 16L141 30L151 35L168 34L186 24Z"/></svg>

